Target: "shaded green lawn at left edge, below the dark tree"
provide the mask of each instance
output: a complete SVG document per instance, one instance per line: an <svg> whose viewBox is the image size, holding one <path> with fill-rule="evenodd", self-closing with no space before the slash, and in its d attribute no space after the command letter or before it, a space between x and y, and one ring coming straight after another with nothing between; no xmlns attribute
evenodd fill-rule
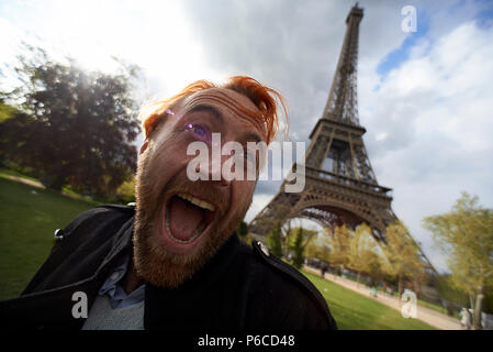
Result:
<svg viewBox="0 0 493 352"><path fill-rule="evenodd" d="M0 299L24 289L48 256L54 230L94 205L0 174Z"/></svg>

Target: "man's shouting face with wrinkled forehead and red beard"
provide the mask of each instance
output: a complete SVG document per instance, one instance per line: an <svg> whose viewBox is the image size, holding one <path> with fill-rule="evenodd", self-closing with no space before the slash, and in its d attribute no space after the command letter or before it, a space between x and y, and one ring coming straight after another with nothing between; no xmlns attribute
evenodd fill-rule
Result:
<svg viewBox="0 0 493 352"><path fill-rule="evenodd" d="M264 141L262 132L242 108L258 111L248 98L229 89L197 92L173 109L142 151L134 261L137 273L153 285L176 287L189 278L248 210L256 180L226 180L214 167L205 172L209 180L192 182L187 175L188 164L195 157L187 155L191 143L203 142L209 151L221 147L212 145L212 133L221 134L222 145L235 141L244 151L247 142ZM221 156L222 166L229 157Z"/></svg>

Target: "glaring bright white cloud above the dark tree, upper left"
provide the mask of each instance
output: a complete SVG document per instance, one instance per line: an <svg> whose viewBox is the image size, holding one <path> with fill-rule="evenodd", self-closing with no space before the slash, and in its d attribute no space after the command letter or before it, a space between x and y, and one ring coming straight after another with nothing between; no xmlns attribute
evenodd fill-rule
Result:
<svg viewBox="0 0 493 352"><path fill-rule="evenodd" d="M52 0L12 4L0 16L89 69L112 70L111 56L136 63L149 77L148 94L168 96L198 77L222 78L204 61L179 2Z"/></svg>

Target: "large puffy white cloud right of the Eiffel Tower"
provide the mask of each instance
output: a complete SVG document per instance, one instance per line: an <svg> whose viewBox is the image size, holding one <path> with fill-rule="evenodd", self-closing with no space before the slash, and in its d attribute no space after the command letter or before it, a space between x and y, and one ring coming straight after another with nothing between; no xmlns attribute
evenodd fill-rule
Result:
<svg viewBox="0 0 493 352"><path fill-rule="evenodd" d="M379 182L394 188L395 212L441 270L444 257L422 219L449 211L461 190L493 206L492 44L492 28L463 23L427 54L416 51L421 55L392 70L379 90L362 92L371 105L363 106L371 111L363 121Z"/></svg>

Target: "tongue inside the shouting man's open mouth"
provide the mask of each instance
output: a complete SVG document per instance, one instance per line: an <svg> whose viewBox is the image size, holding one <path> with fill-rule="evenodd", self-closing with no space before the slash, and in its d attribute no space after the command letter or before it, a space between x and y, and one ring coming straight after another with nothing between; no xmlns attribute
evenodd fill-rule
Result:
<svg viewBox="0 0 493 352"><path fill-rule="evenodd" d="M169 227L173 238L188 241L204 219L204 210L179 198L172 197L169 205Z"/></svg>

